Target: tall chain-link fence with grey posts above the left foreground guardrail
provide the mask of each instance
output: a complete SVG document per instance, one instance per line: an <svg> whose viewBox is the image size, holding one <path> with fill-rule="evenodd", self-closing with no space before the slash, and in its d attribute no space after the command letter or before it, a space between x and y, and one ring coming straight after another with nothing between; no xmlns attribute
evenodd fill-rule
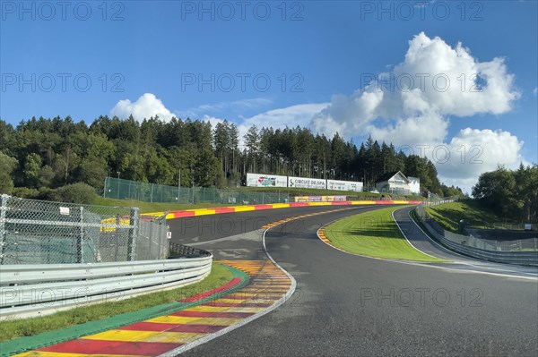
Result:
<svg viewBox="0 0 538 357"><path fill-rule="evenodd" d="M165 259L164 220L138 208L75 205L0 196L0 264Z"/></svg>

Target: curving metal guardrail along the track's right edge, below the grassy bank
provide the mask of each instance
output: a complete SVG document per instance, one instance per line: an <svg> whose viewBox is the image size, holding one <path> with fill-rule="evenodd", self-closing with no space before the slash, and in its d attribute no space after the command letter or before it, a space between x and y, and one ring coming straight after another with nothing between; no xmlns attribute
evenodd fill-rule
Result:
<svg viewBox="0 0 538 357"><path fill-rule="evenodd" d="M433 220L422 206L415 208L416 216L434 238L447 248L464 255L499 263L538 266L538 251L500 251L501 246L473 237L448 232Z"/></svg>

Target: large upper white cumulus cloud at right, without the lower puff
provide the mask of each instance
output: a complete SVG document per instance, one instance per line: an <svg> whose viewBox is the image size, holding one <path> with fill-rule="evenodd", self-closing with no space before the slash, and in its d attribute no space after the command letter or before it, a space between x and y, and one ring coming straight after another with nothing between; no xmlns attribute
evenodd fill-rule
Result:
<svg viewBox="0 0 538 357"><path fill-rule="evenodd" d="M480 62L461 43L451 47L423 32L409 41L404 62L392 72L362 77L368 85L349 97L334 96L312 119L313 128L430 142L445 138L448 116L501 115L521 96L503 58ZM372 123L378 118L384 119L381 126Z"/></svg>

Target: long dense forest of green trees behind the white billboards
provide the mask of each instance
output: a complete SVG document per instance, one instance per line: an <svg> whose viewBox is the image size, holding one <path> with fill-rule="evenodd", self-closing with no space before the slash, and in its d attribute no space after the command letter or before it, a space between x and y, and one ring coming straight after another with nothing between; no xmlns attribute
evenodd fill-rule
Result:
<svg viewBox="0 0 538 357"><path fill-rule="evenodd" d="M239 144L242 139L243 144ZM371 137L359 147L339 134L327 138L308 128L251 126L243 138L235 123L159 117L142 123L101 115L90 125L32 117L14 126L0 119L0 191L47 190L69 183L103 187L104 178L182 186L226 187L244 183L247 172L362 181L402 171L421 179L421 190L461 195L438 180L425 157L396 151ZM180 174L180 177L179 177ZM14 189L15 188L15 189ZM19 190L20 192L21 190Z"/></svg>

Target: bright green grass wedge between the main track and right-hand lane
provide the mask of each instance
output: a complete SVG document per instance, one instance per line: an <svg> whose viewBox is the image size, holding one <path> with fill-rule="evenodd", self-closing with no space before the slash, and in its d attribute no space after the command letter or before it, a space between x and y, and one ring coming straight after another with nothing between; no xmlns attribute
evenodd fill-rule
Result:
<svg viewBox="0 0 538 357"><path fill-rule="evenodd" d="M325 235L335 247L354 254L382 259L440 262L415 250L404 238L391 213L383 208L345 217L325 228Z"/></svg>

